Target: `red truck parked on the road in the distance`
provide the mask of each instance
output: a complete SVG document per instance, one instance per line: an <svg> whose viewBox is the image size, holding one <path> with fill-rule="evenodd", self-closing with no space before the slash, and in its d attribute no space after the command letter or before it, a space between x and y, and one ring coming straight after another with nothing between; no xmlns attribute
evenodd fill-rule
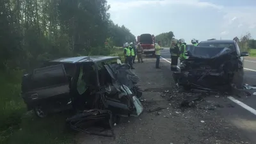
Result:
<svg viewBox="0 0 256 144"><path fill-rule="evenodd" d="M137 36L138 43L141 44L141 47L144 50L144 54L155 54L155 36L145 33Z"/></svg>

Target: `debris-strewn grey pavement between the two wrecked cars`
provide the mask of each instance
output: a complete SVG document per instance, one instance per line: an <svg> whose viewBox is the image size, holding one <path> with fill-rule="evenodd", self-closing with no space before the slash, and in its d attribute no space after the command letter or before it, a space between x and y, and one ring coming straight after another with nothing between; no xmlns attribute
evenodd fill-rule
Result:
<svg viewBox="0 0 256 144"><path fill-rule="evenodd" d="M250 143L239 130L219 115L218 110L232 108L225 100L220 104L218 95L208 95L200 106L180 108L180 102L194 93L183 93L173 82L170 63L161 61L161 69L155 68L155 59L147 58L144 63L134 64L135 74L140 77L143 92L144 112L139 117L122 118L115 126L116 138L90 136L80 133L78 143L173 143L173 144L238 144ZM196 105L196 102L193 103ZM161 111L148 111L164 108Z"/></svg>

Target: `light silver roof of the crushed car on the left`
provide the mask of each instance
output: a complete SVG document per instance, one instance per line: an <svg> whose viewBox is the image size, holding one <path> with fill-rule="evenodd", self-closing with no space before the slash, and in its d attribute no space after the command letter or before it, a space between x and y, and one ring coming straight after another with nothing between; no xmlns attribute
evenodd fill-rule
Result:
<svg viewBox="0 0 256 144"><path fill-rule="evenodd" d="M56 60L52 60L50 62L58 62L58 63L97 63L100 61L106 60L115 60L119 59L119 56L77 56L70 58L59 58Z"/></svg>

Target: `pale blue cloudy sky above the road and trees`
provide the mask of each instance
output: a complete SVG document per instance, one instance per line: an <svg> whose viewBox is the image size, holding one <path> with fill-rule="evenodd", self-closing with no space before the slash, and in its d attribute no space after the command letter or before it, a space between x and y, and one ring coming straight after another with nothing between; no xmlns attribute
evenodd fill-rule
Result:
<svg viewBox="0 0 256 144"><path fill-rule="evenodd" d="M176 38L256 38L256 0L108 0L116 24L138 36L173 31Z"/></svg>

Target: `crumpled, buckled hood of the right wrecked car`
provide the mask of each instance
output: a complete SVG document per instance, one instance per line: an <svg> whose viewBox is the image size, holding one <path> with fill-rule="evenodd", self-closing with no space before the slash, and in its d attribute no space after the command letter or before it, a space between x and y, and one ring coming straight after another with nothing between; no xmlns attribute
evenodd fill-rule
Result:
<svg viewBox="0 0 256 144"><path fill-rule="evenodd" d="M189 58L213 59L233 52L227 47L191 47Z"/></svg>

